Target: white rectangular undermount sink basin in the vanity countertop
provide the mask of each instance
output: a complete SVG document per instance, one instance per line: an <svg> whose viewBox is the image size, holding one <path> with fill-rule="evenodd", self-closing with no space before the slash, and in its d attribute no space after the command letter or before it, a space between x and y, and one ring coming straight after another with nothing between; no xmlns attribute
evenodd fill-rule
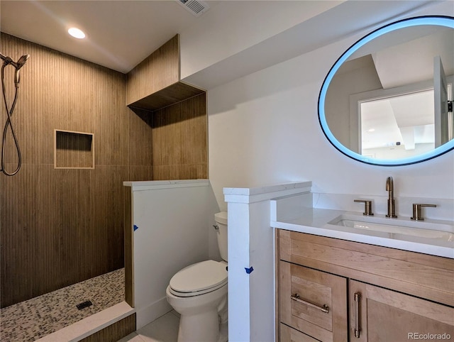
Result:
<svg viewBox="0 0 454 342"><path fill-rule="evenodd" d="M373 216L342 214L328 222L335 226L353 228L358 231L397 240L429 239L445 241L454 247L454 226L425 221L407 221Z"/></svg>

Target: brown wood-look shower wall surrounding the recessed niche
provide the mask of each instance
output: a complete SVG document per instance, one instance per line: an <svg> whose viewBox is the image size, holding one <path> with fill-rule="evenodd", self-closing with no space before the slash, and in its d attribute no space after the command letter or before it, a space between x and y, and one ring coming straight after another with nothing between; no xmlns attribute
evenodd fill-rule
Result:
<svg viewBox="0 0 454 342"><path fill-rule="evenodd" d="M22 168L0 175L6 307L123 267L123 181L151 179L152 128L126 107L126 75L5 33L0 43L13 60L31 55L13 114ZM55 170L55 129L94 134L94 170ZM6 146L11 171L11 138Z"/></svg>

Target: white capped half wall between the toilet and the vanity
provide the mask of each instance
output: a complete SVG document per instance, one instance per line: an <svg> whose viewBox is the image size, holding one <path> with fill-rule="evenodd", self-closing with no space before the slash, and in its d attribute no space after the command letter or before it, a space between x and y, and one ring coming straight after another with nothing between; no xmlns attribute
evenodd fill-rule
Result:
<svg viewBox="0 0 454 342"><path fill-rule="evenodd" d="M275 236L270 227L270 199L299 194L299 200L292 201L294 208L311 202L310 191L311 182L224 189L228 202L229 341L273 341ZM287 212L289 208L287 205ZM252 272L246 272L250 267Z"/></svg>

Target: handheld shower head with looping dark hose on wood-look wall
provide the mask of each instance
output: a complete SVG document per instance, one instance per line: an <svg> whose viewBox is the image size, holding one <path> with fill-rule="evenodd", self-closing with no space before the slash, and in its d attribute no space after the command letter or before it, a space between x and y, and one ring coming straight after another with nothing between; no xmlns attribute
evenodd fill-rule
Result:
<svg viewBox="0 0 454 342"><path fill-rule="evenodd" d="M28 57L30 55L23 55L21 58L18 59L17 62L14 62L11 57L6 57L0 53L1 60L3 60L3 65L1 65L1 90L3 92L3 99L6 109L6 123L3 130L3 138L1 143L1 172L3 172L7 176L16 175L16 173L21 168L22 164L22 156L21 156L21 149L19 148L19 143L16 137L16 133L14 132L13 122L11 121L11 117L13 116L14 107L16 106L17 96L18 96L18 89L19 89L19 82L21 80L21 75L19 71L21 67L26 64ZM9 108L8 102L6 101L6 88L5 88L5 67L8 65L12 65L15 68L14 71L14 99L11 107ZM16 170L9 173L5 170L5 144L6 144L6 133L8 133L8 128L11 130L11 135L13 136L14 144L16 145L16 152L18 156L18 165Z"/></svg>

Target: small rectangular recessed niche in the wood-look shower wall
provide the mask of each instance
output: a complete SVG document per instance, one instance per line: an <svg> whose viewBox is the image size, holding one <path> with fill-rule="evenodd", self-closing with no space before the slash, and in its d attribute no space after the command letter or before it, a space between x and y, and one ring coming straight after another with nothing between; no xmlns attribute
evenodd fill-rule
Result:
<svg viewBox="0 0 454 342"><path fill-rule="evenodd" d="M94 134L55 130L55 169L94 169Z"/></svg>

